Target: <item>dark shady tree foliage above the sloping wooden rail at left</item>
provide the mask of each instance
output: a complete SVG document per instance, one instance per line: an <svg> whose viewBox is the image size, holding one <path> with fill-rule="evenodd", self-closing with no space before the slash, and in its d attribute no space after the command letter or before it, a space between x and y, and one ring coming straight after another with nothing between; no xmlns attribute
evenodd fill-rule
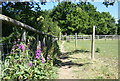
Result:
<svg viewBox="0 0 120 81"><path fill-rule="evenodd" d="M49 32L54 31L54 33L52 34L56 34L57 32L59 32L57 23L52 22L52 20L49 18L49 13L47 11L45 12L41 11L39 2L8 2L8 3L3 2L2 5L3 5L2 6L3 14L6 16L9 16L13 19L21 21L40 31L47 30L48 27L54 26L53 27L54 29L50 28L51 31ZM49 22L51 24L48 24L47 26L45 26L46 25L45 22ZM8 23L3 22L3 26L6 26L6 25L9 26L11 31L10 33L14 31L13 29L18 29L18 28L15 28L15 26L8 25ZM19 31L20 30L21 29L19 29ZM10 34L10 33L5 33L4 31L8 31L8 30L3 27L3 36L8 36ZM47 33L48 31L45 31L45 32ZM58 35L58 33L56 35Z"/></svg>

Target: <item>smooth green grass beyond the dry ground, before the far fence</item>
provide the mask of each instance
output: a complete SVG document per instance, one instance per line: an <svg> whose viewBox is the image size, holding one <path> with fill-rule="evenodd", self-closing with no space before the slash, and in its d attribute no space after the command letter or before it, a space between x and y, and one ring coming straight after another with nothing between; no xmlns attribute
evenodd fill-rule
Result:
<svg viewBox="0 0 120 81"><path fill-rule="evenodd" d="M77 40L75 48L75 40L65 42L66 51L86 50L91 52L91 40ZM100 55L118 57L118 40L95 40L95 50L100 49Z"/></svg>

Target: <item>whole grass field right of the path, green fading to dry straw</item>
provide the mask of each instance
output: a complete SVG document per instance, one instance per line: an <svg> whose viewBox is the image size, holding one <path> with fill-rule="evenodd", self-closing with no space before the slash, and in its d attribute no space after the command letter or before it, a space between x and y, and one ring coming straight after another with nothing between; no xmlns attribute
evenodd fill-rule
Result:
<svg viewBox="0 0 120 81"><path fill-rule="evenodd" d="M95 59L91 60L91 41L65 41L64 50L74 79L118 79L118 40L96 40ZM79 66L80 65L80 66ZM69 69L69 68L68 68Z"/></svg>

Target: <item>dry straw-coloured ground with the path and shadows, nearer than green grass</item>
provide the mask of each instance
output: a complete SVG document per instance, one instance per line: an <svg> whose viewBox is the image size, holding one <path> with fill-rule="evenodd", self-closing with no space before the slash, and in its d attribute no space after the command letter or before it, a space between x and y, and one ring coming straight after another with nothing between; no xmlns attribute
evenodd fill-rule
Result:
<svg viewBox="0 0 120 81"><path fill-rule="evenodd" d="M96 54L96 59L91 60L90 53L69 53L64 50L65 41L62 41L60 50L61 64L58 70L58 79L117 79L118 60L103 58ZM69 54L68 54L69 53ZM68 54L68 55L66 55Z"/></svg>

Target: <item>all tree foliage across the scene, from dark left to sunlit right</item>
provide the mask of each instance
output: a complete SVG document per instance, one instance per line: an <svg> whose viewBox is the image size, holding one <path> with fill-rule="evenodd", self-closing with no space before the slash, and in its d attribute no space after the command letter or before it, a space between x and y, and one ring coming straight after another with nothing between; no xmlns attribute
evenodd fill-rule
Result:
<svg viewBox="0 0 120 81"><path fill-rule="evenodd" d="M38 30L53 35L83 33L91 34L93 25L97 26L96 34L116 34L115 19L108 12L96 10L89 2L61 2L54 9L42 11L40 3L35 2L4 2L3 14L28 24ZM14 31L12 25L8 26ZM15 29L15 28L14 28ZM20 29L19 29L20 30ZM3 35L8 35L3 28Z"/></svg>

